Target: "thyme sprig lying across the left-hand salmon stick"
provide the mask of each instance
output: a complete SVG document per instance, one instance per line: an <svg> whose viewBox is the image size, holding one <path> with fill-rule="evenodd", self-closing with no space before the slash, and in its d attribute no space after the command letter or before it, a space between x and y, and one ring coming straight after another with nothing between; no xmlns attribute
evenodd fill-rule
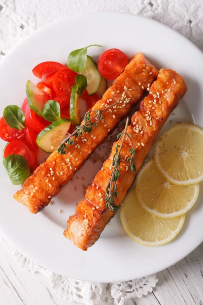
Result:
<svg viewBox="0 0 203 305"><path fill-rule="evenodd" d="M117 105L119 101L113 103L112 105L107 106L104 109L98 109L98 110L91 110L87 111L84 116L84 124L77 126L74 130L73 133L67 134L67 138L60 144L58 147L58 154L64 155L65 154L65 149L70 150L67 145L74 145L75 144L75 139L77 137L81 137L84 135L84 133L89 134L92 131L92 128L96 128L98 122L103 118L103 112L108 110L109 108ZM93 116L90 116L91 113L95 112ZM75 139L74 139L75 137Z"/></svg>

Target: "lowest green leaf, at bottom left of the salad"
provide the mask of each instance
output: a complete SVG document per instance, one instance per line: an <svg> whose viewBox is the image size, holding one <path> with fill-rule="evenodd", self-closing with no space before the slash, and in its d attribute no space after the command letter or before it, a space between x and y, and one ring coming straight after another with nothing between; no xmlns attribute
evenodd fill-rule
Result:
<svg viewBox="0 0 203 305"><path fill-rule="evenodd" d="M20 185L29 176L29 165L20 155L9 155L3 160L3 164L13 185Z"/></svg>

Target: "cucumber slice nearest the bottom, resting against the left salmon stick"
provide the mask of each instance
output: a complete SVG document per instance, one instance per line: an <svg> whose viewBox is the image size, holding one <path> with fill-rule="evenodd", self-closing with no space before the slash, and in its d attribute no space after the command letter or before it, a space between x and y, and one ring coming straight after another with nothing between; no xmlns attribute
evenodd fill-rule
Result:
<svg viewBox="0 0 203 305"><path fill-rule="evenodd" d="M45 151L45 153L53 153L58 145L62 142L67 131L71 125L70 119L62 119L55 121L49 126L45 127L37 137L38 146Z"/></svg>

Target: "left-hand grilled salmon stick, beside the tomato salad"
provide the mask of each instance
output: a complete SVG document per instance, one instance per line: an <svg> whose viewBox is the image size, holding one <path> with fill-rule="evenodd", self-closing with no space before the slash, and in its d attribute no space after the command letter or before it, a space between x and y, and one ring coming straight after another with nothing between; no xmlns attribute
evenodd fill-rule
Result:
<svg viewBox="0 0 203 305"><path fill-rule="evenodd" d="M151 65L142 53L137 53L124 72L117 77L113 85L107 89L103 98L92 110L103 109L117 101L119 108L104 111L104 120L84 138L77 138L75 145L65 155L54 151L45 163L41 164L32 176L24 182L22 190L15 193L14 198L27 206L31 213L36 214L45 208L64 186L82 167L92 151L105 141L108 134L117 126L119 121L130 111L133 104L141 99L143 92L157 77L157 69ZM128 99L127 101L125 99ZM123 106L124 105L124 106ZM114 111L116 110L116 111ZM84 123L82 121L81 125ZM77 145L77 146L76 146Z"/></svg>

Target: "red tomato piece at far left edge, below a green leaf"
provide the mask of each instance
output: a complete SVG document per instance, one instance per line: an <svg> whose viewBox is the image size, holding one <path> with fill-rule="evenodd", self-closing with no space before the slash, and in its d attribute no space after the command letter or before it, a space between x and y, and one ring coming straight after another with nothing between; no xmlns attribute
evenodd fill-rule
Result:
<svg viewBox="0 0 203 305"><path fill-rule="evenodd" d="M4 116L0 118L0 137L7 141L11 142L16 139L21 139L24 136L25 130L18 130L8 126L5 122Z"/></svg>

